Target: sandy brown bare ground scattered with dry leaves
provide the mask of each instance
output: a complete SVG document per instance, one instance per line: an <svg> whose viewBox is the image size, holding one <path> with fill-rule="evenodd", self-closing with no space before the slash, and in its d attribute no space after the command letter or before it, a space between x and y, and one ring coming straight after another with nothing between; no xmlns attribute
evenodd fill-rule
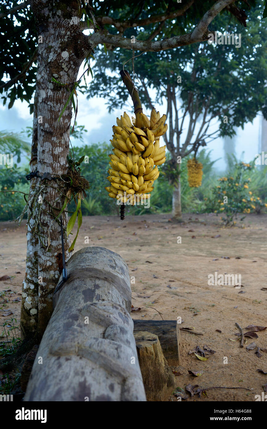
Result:
<svg viewBox="0 0 267 429"><path fill-rule="evenodd" d="M187 401L255 401L267 384L267 374L256 371L267 372L267 353L261 351L258 357L257 349L246 350L246 346L255 341L266 349L267 329L257 332L256 339L247 338L243 348L230 338L237 338L236 322L243 328L267 326L267 290L261 290L267 287L267 215L248 215L243 227L239 223L234 228L222 228L215 215L184 215L184 221L174 224L167 214L127 216L125 221L116 216L85 217L75 250L102 246L125 259L130 275L135 276L132 304L141 308L131 313L134 319L160 319L152 306L164 320L182 317L182 327L203 333L181 332L182 375L176 376L177 386L250 389L209 390L207 397L195 395ZM0 296L0 324L10 317L19 324L27 244L24 225L18 229L12 223L0 223L0 277L12 277L0 281L0 291L7 291ZM89 244L84 244L86 236ZM243 287L209 286L208 275L216 271L241 274ZM3 316L9 311L13 314ZM216 353L200 361L194 353L188 354L197 345L207 345ZM203 370L203 374L195 377L188 370ZM166 401L176 401L172 391Z"/></svg>

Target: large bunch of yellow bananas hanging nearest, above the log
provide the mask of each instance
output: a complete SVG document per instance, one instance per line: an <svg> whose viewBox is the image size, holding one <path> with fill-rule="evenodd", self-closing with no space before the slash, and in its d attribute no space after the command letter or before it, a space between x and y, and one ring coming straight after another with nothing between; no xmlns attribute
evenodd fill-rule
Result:
<svg viewBox="0 0 267 429"><path fill-rule="evenodd" d="M143 113L138 115L141 127L135 126L134 118L132 124L126 112L112 127L114 134L110 142L113 154L109 155L107 177L110 186L105 187L111 198L123 198L123 195L125 198L124 192L126 195L143 194L143 197L149 194L159 176L158 165L166 160L166 146L159 145L160 136L167 131L167 124L164 124L166 115L161 116L155 108L150 119Z"/></svg>

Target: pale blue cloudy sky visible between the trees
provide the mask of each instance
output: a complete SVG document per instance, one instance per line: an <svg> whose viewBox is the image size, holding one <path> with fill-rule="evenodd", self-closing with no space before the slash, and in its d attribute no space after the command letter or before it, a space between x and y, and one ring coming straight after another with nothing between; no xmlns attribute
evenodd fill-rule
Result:
<svg viewBox="0 0 267 429"><path fill-rule="evenodd" d="M81 66L81 73L83 72L83 66ZM152 94L153 95L153 94ZM153 99L153 97L152 97ZM112 125L116 124L116 117L123 114L125 110L129 116L133 115L130 103L127 103L124 109L115 110L111 114L107 112L106 100L103 98L92 98L86 99L85 94L78 93L78 116L77 124L85 125L88 133L84 133L84 143L102 143L109 142L112 137ZM8 104L8 103L7 103ZM0 130L9 130L21 132L27 126L32 126L33 115L30 115L27 103L21 103L20 100L16 100L12 109L8 109L6 106L0 105ZM166 112L166 106L155 105L155 108L160 111L161 115ZM147 115L150 112L144 111ZM59 112L58 112L59 114ZM57 117L55 117L55 120ZM255 154L259 152L259 136L260 136L260 124L261 118L258 115L253 124L246 124L244 130L239 128L237 130L237 138L235 141L235 152L238 158L241 157L244 151L243 161L249 162ZM216 129L217 125L214 122L212 124L211 131ZM186 131L186 123L185 123ZM182 134L182 140L185 135ZM74 145L82 145L77 139L72 140ZM163 145L163 139L161 139L161 145ZM225 169L223 140L216 139L207 145L208 150L212 150L211 158L221 160L215 163L215 168L218 170Z"/></svg>

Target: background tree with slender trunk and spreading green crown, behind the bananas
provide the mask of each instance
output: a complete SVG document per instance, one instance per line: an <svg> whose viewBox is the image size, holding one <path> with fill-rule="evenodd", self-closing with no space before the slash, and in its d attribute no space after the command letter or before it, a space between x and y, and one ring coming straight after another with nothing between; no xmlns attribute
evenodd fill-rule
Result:
<svg viewBox="0 0 267 429"><path fill-rule="evenodd" d="M182 217L177 162L220 136L234 136L237 127L253 121L261 109L266 115L267 27L258 18L262 11L263 7L251 11L243 32L241 25L227 15L215 19L213 25L221 33L242 33L240 48L201 43L146 52L135 60L134 71L139 79L136 85L143 104L149 110L155 102L167 104L169 129L163 138L171 157L163 171L173 184L174 218ZM145 35L142 32L136 37ZM129 57L129 52L121 49L114 49L108 58L99 51L88 98L107 98L109 110L123 107L127 91L118 72ZM107 75L106 69L112 71L112 76Z"/></svg>

